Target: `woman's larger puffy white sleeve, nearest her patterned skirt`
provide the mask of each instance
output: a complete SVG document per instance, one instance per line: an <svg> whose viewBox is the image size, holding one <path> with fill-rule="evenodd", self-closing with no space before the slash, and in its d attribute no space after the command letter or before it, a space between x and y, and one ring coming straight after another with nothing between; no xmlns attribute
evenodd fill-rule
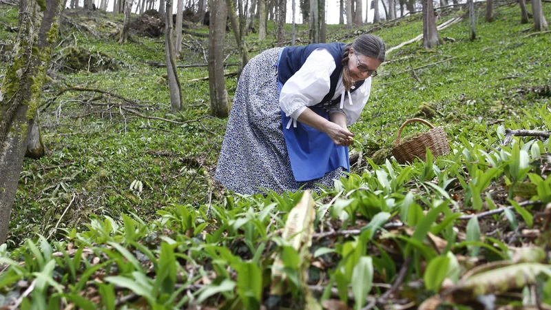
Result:
<svg viewBox="0 0 551 310"><path fill-rule="evenodd" d="M329 92L335 68L335 60L327 50L313 51L282 87L280 106L285 115L296 119L306 107L320 103Z"/></svg>

